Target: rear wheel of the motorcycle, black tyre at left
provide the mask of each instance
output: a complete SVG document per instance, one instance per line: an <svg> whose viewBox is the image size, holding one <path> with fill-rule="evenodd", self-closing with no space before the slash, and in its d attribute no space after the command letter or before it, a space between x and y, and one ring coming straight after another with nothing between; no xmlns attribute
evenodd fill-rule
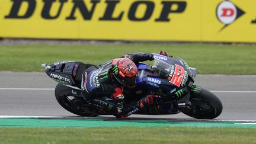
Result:
<svg viewBox="0 0 256 144"><path fill-rule="evenodd" d="M98 114L92 112L92 109L95 109L94 105L87 104L82 97L74 96L72 91L72 88L66 87L62 84L57 84L55 88L55 97L57 102L73 114L87 117L98 116Z"/></svg>

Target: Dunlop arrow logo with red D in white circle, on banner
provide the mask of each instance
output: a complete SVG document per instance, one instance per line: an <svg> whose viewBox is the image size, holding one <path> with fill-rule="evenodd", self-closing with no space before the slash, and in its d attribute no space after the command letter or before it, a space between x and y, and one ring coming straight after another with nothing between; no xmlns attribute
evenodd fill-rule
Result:
<svg viewBox="0 0 256 144"><path fill-rule="evenodd" d="M224 26L220 29L222 31L228 25L234 23L239 17L244 15L245 12L233 4L231 1L223 1L217 6L216 15L220 23Z"/></svg>

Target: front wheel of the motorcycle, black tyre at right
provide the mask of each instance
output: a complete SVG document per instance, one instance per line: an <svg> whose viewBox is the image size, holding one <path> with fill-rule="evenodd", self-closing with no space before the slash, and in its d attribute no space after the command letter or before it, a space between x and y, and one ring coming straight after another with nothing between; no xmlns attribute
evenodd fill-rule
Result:
<svg viewBox="0 0 256 144"><path fill-rule="evenodd" d="M190 105L184 110L184 114L196 119L215 119L222 113L222 103L212 92L196 87L196 91L191 91Z"/></svg>

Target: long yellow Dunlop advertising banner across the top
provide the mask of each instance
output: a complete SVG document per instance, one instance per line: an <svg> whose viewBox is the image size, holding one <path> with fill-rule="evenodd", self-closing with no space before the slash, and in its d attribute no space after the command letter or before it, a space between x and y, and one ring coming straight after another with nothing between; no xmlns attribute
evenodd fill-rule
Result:
<svg viewBox="0 0 256 144"><path fill-rule="evenodd" d="M1 0L0 37L256 42L254 0Z"/></svg>

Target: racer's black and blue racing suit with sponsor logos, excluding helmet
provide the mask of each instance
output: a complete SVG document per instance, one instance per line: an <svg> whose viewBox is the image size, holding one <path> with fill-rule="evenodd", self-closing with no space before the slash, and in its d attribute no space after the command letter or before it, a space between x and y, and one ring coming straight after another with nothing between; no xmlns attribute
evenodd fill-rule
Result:
<svg viewBox="0 0 256 144"><path fill-rule="evenodd" d="M122 57L127 57L135 63L153 60L151 53L130 53ZM109 60L86 69L82 75L81 93L89 103L103 107L117 117L127 117L138 111L140 105L138 103L124 103L123 85L113 77L112 62L113 60ZM116 105L109 103L109 98L115 100ZM116 111L113 106L117 108Z"/></svg>

